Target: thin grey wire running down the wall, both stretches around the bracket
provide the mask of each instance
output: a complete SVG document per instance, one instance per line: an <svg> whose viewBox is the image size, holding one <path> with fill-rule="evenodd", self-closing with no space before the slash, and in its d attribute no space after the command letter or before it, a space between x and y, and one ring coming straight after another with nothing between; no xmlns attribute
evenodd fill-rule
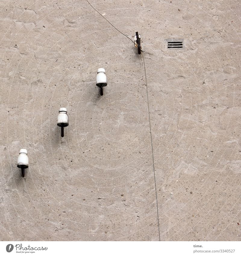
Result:
<svg viewBox="0 0 241 256"><path fill-rule="evenodd" d="M89 5L97 11L91 3L86 0ZM108 21L99 11L97 11L106 21ZM109 24L111 24L110 21L108 21ZM112 27L114 27L117 31L119 31L122 35L126 36L128 39L130 39L133 43L135 43L130 37L122 33L120 30L118 30L113 24L111 24ZM144 64L144 71L145 71L145 78L146 78L146 66L145 66L145 60L144 56L141 52L142 58L143 58L143 64ZM152 143L152 130L151 130L151 119L150 119L150 109L149 109L149 97L148 97L148 87L147 87L147 78L146 78L146 93L147 93L147 106L148 106L148 116L149 116L149 125L150 125L150 135L151 135L151 144L152 144L152 162L153 162L153 172L154 172L154 182L155 182L155 193L156 193L156 207L157 207L157 221L158 221L158 233L159 233L159 241L161 241L161 236L160 236L160 225L159 225L159 214L158 214L158 201L157 201L157 190L156 190L156 176L155 176L155 165L154 165L154 153L153 153L153 143Z"/></svg>

